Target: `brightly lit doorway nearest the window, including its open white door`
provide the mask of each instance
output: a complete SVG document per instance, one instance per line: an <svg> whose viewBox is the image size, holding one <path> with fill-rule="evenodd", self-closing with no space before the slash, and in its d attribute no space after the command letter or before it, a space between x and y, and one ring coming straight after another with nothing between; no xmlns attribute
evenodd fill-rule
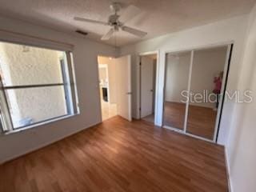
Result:
<svg viewBox="0 0 256 192"><path fill-rule="evenodd" d="M131 121L130 55L120 58L98 56L102 121L116 115Z"/></svg>

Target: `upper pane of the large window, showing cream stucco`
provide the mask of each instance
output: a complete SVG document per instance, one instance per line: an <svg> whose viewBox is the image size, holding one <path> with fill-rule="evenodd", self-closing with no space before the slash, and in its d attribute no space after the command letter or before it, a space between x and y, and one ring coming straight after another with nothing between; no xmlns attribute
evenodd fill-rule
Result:
<svg viewBox="0 0 256 192"><path fill-rule="evenodd" d="M4 86L62 83L65 52L0 42L0 68ZM64 59L66 61L66 59Z"/></svg>

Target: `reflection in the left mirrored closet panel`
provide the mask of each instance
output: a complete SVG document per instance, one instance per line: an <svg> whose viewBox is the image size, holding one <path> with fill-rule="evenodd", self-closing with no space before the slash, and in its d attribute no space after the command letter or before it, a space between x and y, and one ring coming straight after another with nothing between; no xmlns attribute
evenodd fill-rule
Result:
<svg viewBox="0 0 256 192"><path fill-rule="evenodd" d="M190 51L166 54L166 79L164 102L164 126L183 130L186 114L186 98L182 91L188 88Z"/></svg>

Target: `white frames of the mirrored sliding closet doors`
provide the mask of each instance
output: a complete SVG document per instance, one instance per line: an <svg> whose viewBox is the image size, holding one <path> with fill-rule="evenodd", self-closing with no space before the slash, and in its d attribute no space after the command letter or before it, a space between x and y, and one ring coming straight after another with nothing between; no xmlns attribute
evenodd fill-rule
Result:
<svg viewBox="0 0 256 192"><path fill-rule="evenodd" d="M219 46L227 46L227 51L226 51L226 61L224 64L224 69L223 69L223 80L222 82L222 89L221 89L221 98L220 98L220 105L218 106L218 111L217 111L217 115L216 115L216 120L215 120L215 127L214 127L214 137L213 139L208 139L208 138L203 138L201 136L195 135L195 134L190 134L186 132L186 128L187 128L187 120L188 120L188 112L189 112L189 107L190 107L190 102L187 101L186 102L186 114L185 114L185 119L184 119L184 126L183 126L183 130L180 130L178 128L174 128L171 126L165 126L164 125L164 108L165 108L165 101L166 101L166 56L167 54L178 54L178 53L183 53L183 52L190 52L190 71L189 71L189 80L188 80L188 85L187 85L187 91L188 93L190 93L190 86L191 86L191 77L192 77L192 70L193 70L193 62L194 62L194 51L197 50L206 50L206 49L210 49L210 48L214 48L214 47L219 47ZM192 47L190 49L182 49L182 50L166 50L164 52L165 55L165 61L164 61L164 86L163 86L163 99L162 99L162 127L169 129L169 130L174 130L180 134L185 134L188 135L190 137L193 138L198 138L198 139L202 139L206 142L217 142L218 139L218 130L221 124L221 119L222 119L222 109L224 106L224 97L223 97L223 93L225 93L226 91L226 85L227 85L227 80L228 80L228 73L229 73L229 69L230 69L230 60L231 60L231 56L232 56L232 50L234 47L234 42L222 42L222 43L218 43L218 44L212 44L209 46L198 46L198 47Z"/></svg>

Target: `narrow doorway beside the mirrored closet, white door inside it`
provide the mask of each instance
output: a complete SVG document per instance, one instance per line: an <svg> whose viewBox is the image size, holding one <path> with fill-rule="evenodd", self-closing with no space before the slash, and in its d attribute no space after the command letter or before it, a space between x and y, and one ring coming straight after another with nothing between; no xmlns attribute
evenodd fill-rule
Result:
<svg viewBox="0 0 256 192"><path fill-rule="evenodd" d="M158 54L140 56L140 118L154 123L155 82Z"/></svg>

